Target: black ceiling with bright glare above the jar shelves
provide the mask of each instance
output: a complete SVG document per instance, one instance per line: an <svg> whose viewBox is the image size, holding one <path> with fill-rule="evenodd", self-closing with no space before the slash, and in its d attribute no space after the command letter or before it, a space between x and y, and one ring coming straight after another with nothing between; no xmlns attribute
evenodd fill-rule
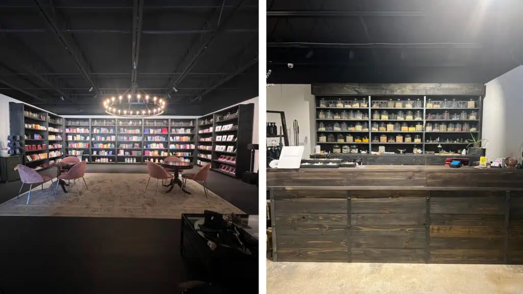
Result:
<svg viewBox="0 0 523 294"><path fill-rule="evenodd" d="M267 10L270 83L485 83L523 63L521 0L268 0Z"/></svg>

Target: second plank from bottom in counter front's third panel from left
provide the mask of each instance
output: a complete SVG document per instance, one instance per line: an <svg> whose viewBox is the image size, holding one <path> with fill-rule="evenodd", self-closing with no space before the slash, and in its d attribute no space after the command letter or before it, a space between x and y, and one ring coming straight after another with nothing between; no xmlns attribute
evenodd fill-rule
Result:
<svg viewBox="0 0 523 294"><path fill-rule="evenodd" d="M433 237L429 241L430 250L446 249L484 249L484 250L503 250L503 238L441 238Z"/></svg>

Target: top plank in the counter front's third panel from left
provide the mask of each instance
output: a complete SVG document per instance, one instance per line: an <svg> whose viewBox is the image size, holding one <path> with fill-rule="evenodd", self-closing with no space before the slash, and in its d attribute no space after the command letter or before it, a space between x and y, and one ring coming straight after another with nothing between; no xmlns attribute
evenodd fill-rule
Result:
<svg viewBox="0 0 523 294"><path fill-rule="evenodd" d="M505 197L431 197L430 213L502 215L505 213Z"/></svg>

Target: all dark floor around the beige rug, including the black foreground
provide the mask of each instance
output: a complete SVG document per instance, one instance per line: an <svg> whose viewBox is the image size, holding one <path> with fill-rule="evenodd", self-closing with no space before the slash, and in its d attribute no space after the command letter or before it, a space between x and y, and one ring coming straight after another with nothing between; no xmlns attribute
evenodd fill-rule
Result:
<svg viewBox="0 0 523 294"><path fill-rule="evenodd" d="M145 173L145 165L89 164L87 172ZM20 185L0 184L0 202ZM255 185L212 171L207 185L258 214ZM0 217L0 294L178 293L191 279L179 237L180 220L173 219Z"/></svg>

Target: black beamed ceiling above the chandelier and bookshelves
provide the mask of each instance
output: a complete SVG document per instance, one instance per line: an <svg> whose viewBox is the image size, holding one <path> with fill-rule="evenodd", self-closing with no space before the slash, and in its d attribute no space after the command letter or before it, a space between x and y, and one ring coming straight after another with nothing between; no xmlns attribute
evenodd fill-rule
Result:
<svg viewBox="0 0 523 294"><path fill-rule="evenodd" d="M102 114L133 63L166 114L258 95L255 0L2 0L0 44L0 93L58 114Z"/></svg>

